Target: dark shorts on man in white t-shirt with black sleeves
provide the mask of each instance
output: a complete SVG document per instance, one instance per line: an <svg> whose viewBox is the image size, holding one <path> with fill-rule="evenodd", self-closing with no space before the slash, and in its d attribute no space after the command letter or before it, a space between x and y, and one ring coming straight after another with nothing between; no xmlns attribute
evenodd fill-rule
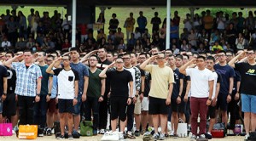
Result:
<svg viewBox="0 0 256 141"><path fill-rule="evenodd" d="M73 99L58 99L59 113L73 113Z"/></svg>

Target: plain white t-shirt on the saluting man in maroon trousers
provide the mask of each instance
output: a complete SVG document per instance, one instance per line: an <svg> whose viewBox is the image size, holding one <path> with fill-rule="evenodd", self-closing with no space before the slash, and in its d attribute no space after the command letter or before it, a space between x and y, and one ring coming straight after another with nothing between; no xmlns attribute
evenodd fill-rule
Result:
<svg viewBox="0 0 256 141"><path fill-rule="evenodd" d="M209 81L213 81L212 71L197 68L186 69L187 76L191 79L191 97L207 98L209 96Z"/></svg>

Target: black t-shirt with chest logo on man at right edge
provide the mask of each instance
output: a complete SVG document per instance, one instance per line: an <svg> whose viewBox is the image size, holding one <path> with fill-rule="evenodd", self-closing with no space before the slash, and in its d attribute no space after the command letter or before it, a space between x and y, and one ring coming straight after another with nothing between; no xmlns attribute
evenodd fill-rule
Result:
<svg viewBox="0 0 256 141"><path fill-rule="evenodd" d="M256 65L249 65L248 63L235 64L236 71L241 75L240 93L249 95L256 95Z"/></svg>

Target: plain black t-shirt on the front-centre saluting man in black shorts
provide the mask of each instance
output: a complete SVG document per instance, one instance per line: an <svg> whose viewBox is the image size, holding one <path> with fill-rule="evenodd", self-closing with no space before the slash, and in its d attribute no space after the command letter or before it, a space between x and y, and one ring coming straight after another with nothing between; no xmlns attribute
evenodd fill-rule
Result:
<svg viewBox="0 0 256 141"><path fill-rule="evenodd" d="M109 78L111 87L111 97L125 97L129 96L129 82L132 82L130 71L107 71L107 78Z"/></svg>

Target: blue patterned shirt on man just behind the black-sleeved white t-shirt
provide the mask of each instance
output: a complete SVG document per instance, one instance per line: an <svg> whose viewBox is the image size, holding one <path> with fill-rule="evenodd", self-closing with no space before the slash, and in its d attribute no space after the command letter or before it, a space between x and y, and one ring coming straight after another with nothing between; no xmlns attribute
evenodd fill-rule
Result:
<svg viewBox="0 0 256 141"><path fill-rule="evenodd" d="M79 72L79 95L81 95L84 92L84 76L89 77L89 68L81 62L78 64L70 63L70 66L73 70Z"/></svg>

